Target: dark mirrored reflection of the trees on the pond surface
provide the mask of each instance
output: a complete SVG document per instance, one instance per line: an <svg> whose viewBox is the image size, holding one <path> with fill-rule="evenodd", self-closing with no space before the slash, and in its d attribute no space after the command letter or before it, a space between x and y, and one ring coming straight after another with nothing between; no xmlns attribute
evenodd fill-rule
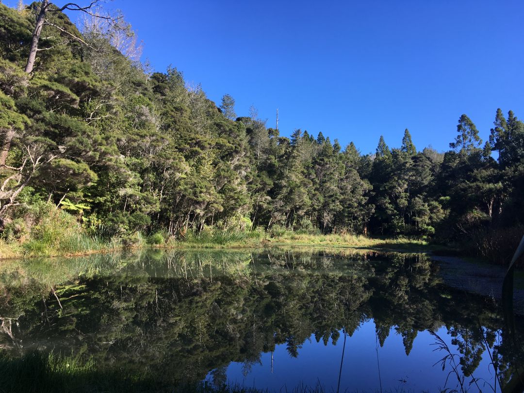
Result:
<svg viewBox="0 0 524 393"><path fill-rule="evenodd" d="M524 352L503 339L494 299L446 287L420 254L151 250L18 261L1 270L0 315L3 351L80 353L169 384L209 372L221 384L231 362L247 375L277 345L297 357L311 336L335 344L370 320L377 361L392 330L409 355L419 332L445 326L466 380L486 346L503 386Z"/></svg>

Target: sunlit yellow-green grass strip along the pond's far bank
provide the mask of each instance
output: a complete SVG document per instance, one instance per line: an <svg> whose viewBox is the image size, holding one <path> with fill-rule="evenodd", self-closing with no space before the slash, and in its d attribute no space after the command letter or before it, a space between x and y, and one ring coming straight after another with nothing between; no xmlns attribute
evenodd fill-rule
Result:
<svg viewBox="0 0 524 393"><path fill-rule="evenodd" d="M320 231L292 231L274 226L271 231L260 229L226 230L205 226L202 231L189 230L179 236L166 232L143 235L135 232L127 236L102 239L85 232L74 217L56 210L52 205L40 225L17 240L0 238L0 260L36 257L77 257L95 253L143 248L163 249L260 249L267 247L360 248L400 252L449 252L457 250L433 244L419 238L366 237L349 233L321 234Z"/></svg>

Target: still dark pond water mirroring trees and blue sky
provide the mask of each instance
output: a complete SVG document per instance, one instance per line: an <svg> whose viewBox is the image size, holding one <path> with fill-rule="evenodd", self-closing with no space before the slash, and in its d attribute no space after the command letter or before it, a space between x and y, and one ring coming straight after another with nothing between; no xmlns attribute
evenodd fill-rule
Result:
<svg viewBox="0 0 524 393"><path fill-rule="evenodd" d="M499 391L522 364L524 318L509 337L496 297L443 269L307 250L13 261L0 266L0 352L82 354L173 386Z"/></svg>

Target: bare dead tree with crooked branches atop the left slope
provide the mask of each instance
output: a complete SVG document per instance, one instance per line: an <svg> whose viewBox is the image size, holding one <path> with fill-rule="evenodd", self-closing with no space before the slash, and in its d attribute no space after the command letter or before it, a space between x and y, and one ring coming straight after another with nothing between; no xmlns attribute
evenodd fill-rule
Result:
<svg viewBox="0 0 524 393"><path fill-rule="evenodd" d="M86 5L85 7L82 7L82 6L80 6L80 5L76 4L76 3L67 3L67 4L63 5L62 7L57 7L57 6L52 7L54 4L51 1L49 1L49 0L41 0L40 7L38 9L38 15L37 15L37 19L36 19L35 29L32 32L31 45L29 47L29 56L27 57L27 64L26 64L25 72L31 73L32 70L35 68L36 54L37 54L38 51L50 49L50 48L43 48L43 49L38 48L38 42L40 40L40 34L42 32L43 26L45 26L45 25L51 26L51 27L54 27L54 28L58 29L60 32L62 32L62 34L66 35L66 36L69 36L70 38L72 38L72 39L82 43L83 45L88 45L88 43L86 43L80 37L77 37L74 34L68 32L68 31L65 31L61 27L59 27L59 26L51 23L49 20L47 20L46 16L48 15L48 13L57 13L57 12L62 12L64 10L68 9L68 10L71 10L71 11L80 11L80 12L83 12L85 14L97 17L97 18L114 21L114 19L111 16L109 16L109 15L101 15L100 13L95 12L95 8L97 6L97 3L99 3L99 1L100 0L93 0L93 1L91 1L91 3L89 5Z"/></svg>

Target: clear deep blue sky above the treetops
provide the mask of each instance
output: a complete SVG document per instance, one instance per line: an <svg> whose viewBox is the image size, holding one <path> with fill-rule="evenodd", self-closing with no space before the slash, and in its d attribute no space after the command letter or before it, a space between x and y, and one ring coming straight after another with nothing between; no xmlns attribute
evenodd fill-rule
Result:
<svg viewBox="0 0 524 393"><path fill-rule="evenodd" d="M79 0L80 1L80 0ZM57 2L58 3L58 2ZM319 131L375 151L446 150L457 119L484 140L497 107L524 118L524 1L114 0L157 71L169 64L281 135Z"/></svg>

